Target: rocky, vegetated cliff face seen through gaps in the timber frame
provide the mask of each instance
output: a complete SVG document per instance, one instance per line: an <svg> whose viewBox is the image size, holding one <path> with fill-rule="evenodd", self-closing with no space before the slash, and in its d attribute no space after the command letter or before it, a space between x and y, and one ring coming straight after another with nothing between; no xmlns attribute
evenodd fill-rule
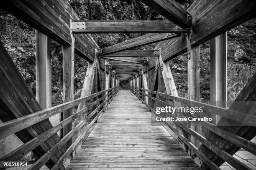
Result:
<svg viewBox="0 0 256 170"><path fill-rule="evenodd" d="M187 9L193 0L177 0ZM136 0L69 0L81 20L163 20L153 10ZM35 93L35 30L12 15L0 10L0 40L20 70L28 86ZM255 72L256 19L228 31L228 89L229 100L233 100L248 78ZM100 47L113 45L141 34L94 34ZM138 49L153 49L156 44ZM52 89L62 89L61 45L52 41ZM82 88L87 62L75 57L75 91ZM210 101L210 42L201 45L200 52L201 101ZM186 54L170 61L177 89L181 97L187 93ZM233 74L237 72L237 74ZM234 84L235 83L235 84ZM79 96L79 94L77 95ZM61 99L53 93L53 104Z"/></svg>

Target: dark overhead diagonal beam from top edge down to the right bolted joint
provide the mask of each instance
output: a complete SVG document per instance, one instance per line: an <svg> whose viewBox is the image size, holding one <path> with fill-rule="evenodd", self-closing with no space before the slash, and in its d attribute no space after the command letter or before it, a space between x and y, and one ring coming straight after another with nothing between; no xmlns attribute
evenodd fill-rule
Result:
<svg viewBox="0 0 256 170"><path fill-rule="evenodd" d="M140 0L181 28L190 28L191 15L174 0Z"/></svg>

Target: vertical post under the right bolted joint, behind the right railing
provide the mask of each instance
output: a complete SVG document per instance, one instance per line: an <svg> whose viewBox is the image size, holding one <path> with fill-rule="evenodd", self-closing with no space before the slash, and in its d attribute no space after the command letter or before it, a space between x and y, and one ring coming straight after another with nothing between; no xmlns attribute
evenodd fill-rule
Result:
<svg viewBox="0 0 256 170"><path fill-rule="evenodd" d="M188 62L187 62L187 76L188 76L188 99L199 101L200 95L200 45L192 46L190 45L191 32L187 35L187 52L188 52ZM194 122L189 122L190 128L200 130L200 126L195 125ZM196 147L199 147L200 143L192 135L191 142L194 143Z"/></svg>

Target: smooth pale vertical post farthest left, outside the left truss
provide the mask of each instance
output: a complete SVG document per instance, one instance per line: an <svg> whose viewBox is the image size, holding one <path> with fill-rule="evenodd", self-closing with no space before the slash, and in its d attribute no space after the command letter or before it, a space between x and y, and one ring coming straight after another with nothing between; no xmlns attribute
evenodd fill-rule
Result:
<svg viewBox="0 0 256 170"><path fill-rule="evenodd" d="M36 100L42 109L51 107L51 39L38 30L36 30ZM59 119L59 115L57 116Z"/></svg>

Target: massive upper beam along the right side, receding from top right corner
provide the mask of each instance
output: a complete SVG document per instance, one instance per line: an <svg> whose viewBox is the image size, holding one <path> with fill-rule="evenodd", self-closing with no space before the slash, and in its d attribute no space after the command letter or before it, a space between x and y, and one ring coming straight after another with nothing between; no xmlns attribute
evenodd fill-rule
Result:
<svg viewBox="0 0 256 170"><path fill-rule="evenodd" d="M191 44L200 45L255 17L255 9L255 0L195 1L187 10L193 18ZM160 47L163 60L171 60L187 51L186 35L159 42L155 49ZM148 68L143 71L154 68L155 62L155 58L148 60Z"/></svg>

